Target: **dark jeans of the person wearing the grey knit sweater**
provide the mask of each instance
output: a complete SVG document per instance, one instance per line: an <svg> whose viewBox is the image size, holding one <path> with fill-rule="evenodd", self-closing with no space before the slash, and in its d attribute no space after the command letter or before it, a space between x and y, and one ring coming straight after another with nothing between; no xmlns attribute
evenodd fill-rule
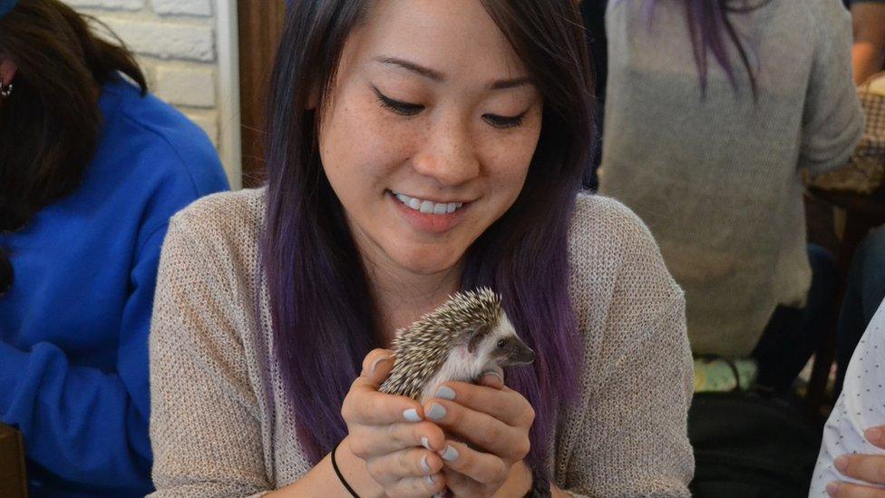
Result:
<svg viewBox="0 0 885 498"><path fill-rule="evenodd" d="M805 308L775 308L753 351L759 365L756 384L765 390L783 393L793 386L796 376L821 344L823 327L831 316L836 285L832 254L808 244L808 262L812 267L812 287L808 289Z"/></svg>

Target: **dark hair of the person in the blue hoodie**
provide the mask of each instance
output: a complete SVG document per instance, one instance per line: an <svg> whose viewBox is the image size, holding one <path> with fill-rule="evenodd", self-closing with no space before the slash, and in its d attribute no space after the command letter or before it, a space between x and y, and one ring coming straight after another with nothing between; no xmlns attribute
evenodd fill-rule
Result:
<svg viewBox="0 0 885 498"><path fill-rule="evenodd" d="M118 72L142 93L147 83L129 51L92 34L59 0L20 0L0 19L0 54L18 66L13 93L0 101L5 231L21 228L79 184L101 130L102 84L120 78Z"/></svg>

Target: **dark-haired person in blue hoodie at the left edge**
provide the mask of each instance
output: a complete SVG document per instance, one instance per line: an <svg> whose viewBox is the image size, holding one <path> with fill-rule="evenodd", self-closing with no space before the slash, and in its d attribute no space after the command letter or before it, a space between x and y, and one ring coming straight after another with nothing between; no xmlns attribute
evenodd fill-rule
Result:
<svg viewBox="0 0 885 498"><path fill-rule="evenodd" d="M0 0L0 423L24 435L32 495L151 492L160 246L227 189L125 48L59 0Z"/></svg>

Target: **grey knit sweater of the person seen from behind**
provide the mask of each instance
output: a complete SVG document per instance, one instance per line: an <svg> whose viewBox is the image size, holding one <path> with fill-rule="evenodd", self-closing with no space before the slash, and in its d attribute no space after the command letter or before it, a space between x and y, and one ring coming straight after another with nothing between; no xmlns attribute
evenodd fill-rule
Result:
<svg viewBox="0 0 885 498"><path fill-rule="evenodd" d="M851 83L851 20L840 0L773 0L730 15L738 93L708 54L702 98L681 0L609 3L600 193L644 220L686 291L697 353L745 356L774 308L811 285L800 170L843 164L863 117ZM729 45L731 46L731 45Z"/></svg>

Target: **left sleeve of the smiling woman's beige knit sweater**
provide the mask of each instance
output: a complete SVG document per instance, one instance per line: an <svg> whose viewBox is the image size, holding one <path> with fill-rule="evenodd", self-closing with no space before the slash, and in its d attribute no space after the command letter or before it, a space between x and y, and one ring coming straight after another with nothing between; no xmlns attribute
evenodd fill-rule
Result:
<svg viewBox="0 0 885 498"><path fill-rule="evenodd" d="M163 245L151 325L152 496L268 491L258 400L235 316L242 305L222 273L229 255L197 239L182 223L186 214L173 219Z"/></svg>

